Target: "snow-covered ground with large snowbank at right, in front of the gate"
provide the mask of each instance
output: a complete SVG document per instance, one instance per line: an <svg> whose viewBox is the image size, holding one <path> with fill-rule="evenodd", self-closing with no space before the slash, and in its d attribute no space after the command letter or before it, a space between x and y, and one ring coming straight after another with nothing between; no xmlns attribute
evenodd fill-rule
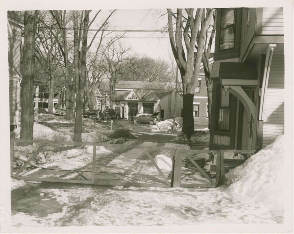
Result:
<svg viewBox="0 0 294 234"><path fill-rule="evenodd" d="M53 130L45 128L37 126L34 129L55 137ZM278 137L273 144L227 173L230 185L219 188L108 187L40 184L12 179L12 220L17 227L283 223L283 140L283 136ZM123 144L136 145L137 141L130 140ZM144 142L142 145L152 147L157 144ZM159 145L162 148L189 149L189 145L176 143ZM32 149L25 150L31 153ZM82 166L87 171L91 165L92 150L93 146L88 146L44 155L47 163L42 167L76 170ZM138 179L138 173L142 181L157 178L154 176L158 172L146 160L143 149L117 149L116 156L113 152L114 149L98 147L99 176L106 176L103 172L108 171L116 178L121 178L119 173L128 172L130 176L123 181ZM153 152L155 161L166 176L171 172L172 156L171 151L164 149ZM38 171L40 169L30 173ZM90 174L91 171L88 174L85 172L83 176L87 178Z"/></svg>

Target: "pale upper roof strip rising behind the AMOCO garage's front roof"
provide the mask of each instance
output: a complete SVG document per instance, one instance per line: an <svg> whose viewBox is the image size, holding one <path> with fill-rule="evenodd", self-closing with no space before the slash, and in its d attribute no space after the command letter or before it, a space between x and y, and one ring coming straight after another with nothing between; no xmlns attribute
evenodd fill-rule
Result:
<svg viewBox="0 0 294 234"><path fill-rule="evenodd" d="M116 85L115 89L153 89L165 90L166 82L150 82L150 81L124 81L121 80Z"/></svg>

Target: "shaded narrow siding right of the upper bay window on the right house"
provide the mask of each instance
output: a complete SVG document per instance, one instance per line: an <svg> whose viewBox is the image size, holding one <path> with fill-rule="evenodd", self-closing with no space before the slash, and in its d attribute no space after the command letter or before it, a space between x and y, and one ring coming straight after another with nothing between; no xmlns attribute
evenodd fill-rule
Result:
<svg viewBox="0 0 294 234"><path fill-rule="evenodd" d="M256 8L249 8L249 24L247 25L248 8L243 8L242 25L241 25L241 43L240 43L240 57L243 57L248 45L255 34L256 25Z"/></svg>

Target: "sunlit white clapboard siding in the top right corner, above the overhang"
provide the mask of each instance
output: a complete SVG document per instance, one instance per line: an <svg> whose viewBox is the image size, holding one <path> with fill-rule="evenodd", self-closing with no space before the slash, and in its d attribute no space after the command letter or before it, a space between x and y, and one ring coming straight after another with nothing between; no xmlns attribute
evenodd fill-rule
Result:
<svg viewBox="0 0 294 234"><path fill-rule="evenodd" d="M263 8L261 34L284 34L283 8Z"/></svg>

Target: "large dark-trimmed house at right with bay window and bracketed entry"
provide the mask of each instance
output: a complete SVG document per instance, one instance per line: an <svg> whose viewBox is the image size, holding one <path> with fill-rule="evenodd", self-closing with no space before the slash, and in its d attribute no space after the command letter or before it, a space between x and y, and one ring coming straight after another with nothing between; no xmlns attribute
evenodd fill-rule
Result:
<svg viewBox="0 0 294 234"><path fill-rule="evenodd" d="M210 149L260 150L284 133L283 8L217 9Z"/></svg>

